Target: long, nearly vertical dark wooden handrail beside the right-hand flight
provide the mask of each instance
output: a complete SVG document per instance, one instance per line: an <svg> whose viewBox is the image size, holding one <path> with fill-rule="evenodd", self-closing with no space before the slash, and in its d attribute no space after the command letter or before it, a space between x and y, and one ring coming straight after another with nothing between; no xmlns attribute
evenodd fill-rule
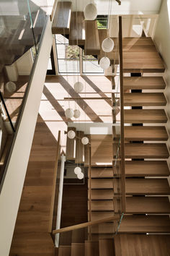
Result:
<svg viewBox="0 0 170 256"><path fill-rule="evenodd" d="M119 52L120 52L120 132L121 132L121 194L122 194L122 212L126 209L125 195L125 138L124 138L124 89L123 89L123 63L122 63L122 17L119 16Z"/></svg>

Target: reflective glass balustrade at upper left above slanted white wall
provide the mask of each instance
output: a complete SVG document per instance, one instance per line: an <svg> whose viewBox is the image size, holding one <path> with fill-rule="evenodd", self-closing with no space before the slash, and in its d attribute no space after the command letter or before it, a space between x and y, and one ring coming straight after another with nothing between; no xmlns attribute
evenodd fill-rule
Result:
<svg viewBox="0 0 170 256"><path fill-rule="evenodd" d="M40 45L45 26L46 13L30 0L0 0L0 4L1 179L14 137L12 124L16 129L37 56L35 47Z"/></svg>

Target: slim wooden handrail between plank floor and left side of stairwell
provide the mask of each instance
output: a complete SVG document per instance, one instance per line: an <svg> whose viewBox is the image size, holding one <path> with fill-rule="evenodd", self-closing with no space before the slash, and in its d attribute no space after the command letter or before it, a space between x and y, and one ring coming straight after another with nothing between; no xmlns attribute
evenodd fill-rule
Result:
<svg viewBox="0 0 170 256"><path fill-rule="evenodd" d="M56 179L58 173L58 159L60 155L61 149L61 131L58 132L58 141L57 141L57 148L56 148L56 159L55 159L55 168L54 168L54 176L53 176L53 192L51 197L51 204L50 204L50 221L48 231L51 233L53 229L53 211L54 211L54 203L55 203L55 189L56 189Z"/></svg>

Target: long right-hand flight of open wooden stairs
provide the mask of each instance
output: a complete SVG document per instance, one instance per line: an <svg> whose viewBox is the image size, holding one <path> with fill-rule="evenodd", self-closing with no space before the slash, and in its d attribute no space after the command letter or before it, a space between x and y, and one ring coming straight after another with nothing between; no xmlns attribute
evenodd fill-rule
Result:
<svg viewBox="0 0 170 256"><path fill-rule="evenodd" d="M126 210L119 233L126 234L124 240L127 239L128 233L163 234L170 231L170 187L167 179L169 166L166 162L169 158L169 150L166 146L168 133L165 126L167 117L164 111L166 85L161 76L141 76L141 72L164 72L164 64L151 38L140 38L138 42L140 41L141 44L135 43L129 51L125 48L126 41L133 42L133 38L131 40L125 38L123 48L124 72L130 72L132 75L123 78ZM144 47L144 42L148 47ZM137 59L139 56L141 59L134 61L133 66L131 59ZM148 61L148 56L154 56L155 61ZM138 72L140 73L136 74ZM114 99L115 96L113 95L112 98ZM113 122L117 121L119 117L117 118L114 114ZM113 136L113 153L114 158L117 158L117 135ZM114 163L115 161L113 165ZM116 169L114 173L114 194L118 196L120 195L119 174ZM119 212L120 201L115 200L117 212ZM135 237L137 236L134 236L134 239ZM117 251L117 255L125 255L125 252L119 253ZM134 252L132 255L135 255Z"/></svg>

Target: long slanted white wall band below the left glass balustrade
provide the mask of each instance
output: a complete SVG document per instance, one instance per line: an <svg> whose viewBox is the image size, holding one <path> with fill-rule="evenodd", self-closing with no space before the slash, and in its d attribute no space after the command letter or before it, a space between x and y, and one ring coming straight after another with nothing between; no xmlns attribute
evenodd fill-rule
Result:
<svg viewBox="0 0 170 256"><path fill-rule="evenodd" d="M14 225L17 218L19 201L22 195L24 177L27 171L32 139L37 121L40 98L45 82L50 48L53 36L51 35L51 22L45 30L44 39L40 48L37 67L35 69L27 102L24 106L22 120L17 131L8 171L0 195L0 255L8 256L12 242Z"/></svg>

